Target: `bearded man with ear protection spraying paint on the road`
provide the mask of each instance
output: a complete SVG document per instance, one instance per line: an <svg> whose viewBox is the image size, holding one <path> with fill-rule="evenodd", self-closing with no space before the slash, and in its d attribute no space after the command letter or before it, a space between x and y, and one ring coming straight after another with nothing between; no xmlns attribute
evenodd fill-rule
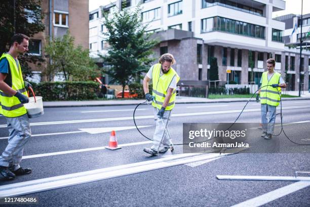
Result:
<svg viewBox="0 0 310 207"><path fill-rule="evenodd" d="M156 120L156 129L153 135L153 145L150 148L144 148L144 152L151 155L166 153L173 146L168 135L167 126L171 111L175 105L176 84L180 77L171 67L175 63L173 55L166 53L161 56L159 63L150 67L143 80L143 90L147 101L152 101L154 107L154 119ZM148 91L148 82L152 79L152 95Z"/></svg>

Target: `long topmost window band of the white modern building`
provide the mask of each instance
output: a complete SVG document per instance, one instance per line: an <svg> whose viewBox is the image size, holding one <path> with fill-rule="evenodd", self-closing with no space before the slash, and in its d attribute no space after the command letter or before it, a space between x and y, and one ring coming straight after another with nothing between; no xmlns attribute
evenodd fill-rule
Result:
<svg viewBox="0 0 310 207"><path fill-rule="evenodd" d="M239 4L236 1L230 2L230 1L223 1L223 0L202 0L202 9L207 8L207 7L213 7L213 6L226 7L226 8L235 9L235 10L239 10L242 12L262 16L262 10Z"/></svg>

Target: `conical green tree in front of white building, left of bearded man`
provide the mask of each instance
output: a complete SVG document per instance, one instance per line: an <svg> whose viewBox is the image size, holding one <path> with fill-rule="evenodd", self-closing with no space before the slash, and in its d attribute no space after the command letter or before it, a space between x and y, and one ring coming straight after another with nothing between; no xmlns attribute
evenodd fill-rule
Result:
<svg viewBox="0 0 310 207"><path fill-rule="evenodd" d="M112 81L125 86L133 79L139 79L143 72L147 72L151 62L152 48L159 42L150 40L145 32L147 25L142 24L141 10L137 6L135 11L123 9L112 14L104 14L105 32L109 48L104 60L103 72L108 74ZM136 80L136 81L139 81Z"/></svg>

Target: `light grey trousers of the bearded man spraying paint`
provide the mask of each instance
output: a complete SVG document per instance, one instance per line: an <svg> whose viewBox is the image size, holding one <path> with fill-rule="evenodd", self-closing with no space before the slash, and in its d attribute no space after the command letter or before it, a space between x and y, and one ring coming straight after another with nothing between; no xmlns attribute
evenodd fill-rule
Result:
<svg viewBox="0 0 310 207"><path fill-rule="evenodd" d="M156 129L153 135L153 145L151 146L151 149L155 151L158 151L159 147L161 150L164 147L170 147L170 145L172 145L170 135L169 136L167 135L167 133L169 133L168 122L170 119L171 111L165 111L163 119L162 119L163 121L157 116L157 114L158 114L158 110L157 108L154 108L154 119L156 122ZM167 133L165 132L165 127L167 129Z"/></svg>

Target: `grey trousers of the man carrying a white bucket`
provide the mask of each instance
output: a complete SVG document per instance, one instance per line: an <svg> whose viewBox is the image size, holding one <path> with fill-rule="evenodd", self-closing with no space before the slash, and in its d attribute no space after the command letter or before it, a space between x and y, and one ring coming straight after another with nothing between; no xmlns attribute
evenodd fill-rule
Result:
<svg viewBox="0 0 310 207"><path fill-rule="evenodd" d="M28 115L20 117L6 117L9 129L9 144L0 156L0 165L12 167L13 170L20 168L24 146L31 136Z"/></svg>

